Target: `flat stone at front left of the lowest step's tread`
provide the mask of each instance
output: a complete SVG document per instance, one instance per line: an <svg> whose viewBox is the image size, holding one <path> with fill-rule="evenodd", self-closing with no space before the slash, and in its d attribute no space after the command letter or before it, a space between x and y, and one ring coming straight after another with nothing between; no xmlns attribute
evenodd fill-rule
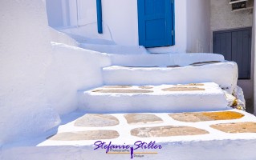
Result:
<svg viewBox="0 0 256 160"><path fill-rule="evenodd" d="M63 132L55 134L47 139L54 141L83 141L118 138L116 130L85 130L79 132Z"/></svg>

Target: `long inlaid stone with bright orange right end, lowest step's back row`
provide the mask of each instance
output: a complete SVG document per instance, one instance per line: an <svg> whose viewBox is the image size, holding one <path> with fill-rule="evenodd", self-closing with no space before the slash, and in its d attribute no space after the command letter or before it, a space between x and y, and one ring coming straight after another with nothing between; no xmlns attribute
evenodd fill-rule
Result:
<svg viewBox="0 0 256 160"><path fill-rule="evenodd" d="M171 118L181 122L204 122L216 120L232 120L242 118L244 114L234 111L221 111L221 112L198 112L198 113L182 113L182 114L169 114Z"/></svg>

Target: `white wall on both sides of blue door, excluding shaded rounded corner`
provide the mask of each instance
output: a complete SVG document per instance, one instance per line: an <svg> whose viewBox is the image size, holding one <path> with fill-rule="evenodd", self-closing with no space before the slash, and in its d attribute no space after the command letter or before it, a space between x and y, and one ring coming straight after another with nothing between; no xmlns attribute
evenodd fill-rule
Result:
<svg viewBox="0 0 256 160"><path fill-rule="evenodd" d="M148 49L152 53L185 53L187 47L187 2L175 0L175 46ZM74 4L73 4L74 3ZM75 1L70 2L75 5ZM137 0L102 0L104 33L97 32L95 0L78 0L78 17L73 7L71 22L78 18L78 26L61 31L71 34L80 42L87 38L104 39L117 45L138 46Z"/></svg>

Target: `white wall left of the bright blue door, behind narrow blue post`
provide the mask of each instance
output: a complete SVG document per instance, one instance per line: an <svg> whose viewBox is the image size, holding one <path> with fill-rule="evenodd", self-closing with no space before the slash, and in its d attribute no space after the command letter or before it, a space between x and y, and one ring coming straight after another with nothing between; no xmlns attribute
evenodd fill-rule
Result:
<svg viewBox="0 0 256 160"><path fill-rule="evenodd" d="M75 1L70 1L74 6ZM78 28L61 29L75 35L80 42L87 38L104 39L124 46L138 46L138 22L136 0L102 0L103 34L98 34L95 0L78 0L78 10L73 7L70 12L71 22L78 18ZM118 7L117 7L118 6ZM78 13L77 17L74 13Z"/></svg>

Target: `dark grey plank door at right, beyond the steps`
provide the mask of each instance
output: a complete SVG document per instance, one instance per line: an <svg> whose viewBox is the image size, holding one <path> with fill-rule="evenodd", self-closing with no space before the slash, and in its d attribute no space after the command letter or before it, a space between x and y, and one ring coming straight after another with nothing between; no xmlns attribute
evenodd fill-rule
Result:
<svg viewBox="0 0 256 160"><path fill-rule="evenodd" d="M251 27L213 32L213 53L238 63L238 78L250 79Z"/></svg>

